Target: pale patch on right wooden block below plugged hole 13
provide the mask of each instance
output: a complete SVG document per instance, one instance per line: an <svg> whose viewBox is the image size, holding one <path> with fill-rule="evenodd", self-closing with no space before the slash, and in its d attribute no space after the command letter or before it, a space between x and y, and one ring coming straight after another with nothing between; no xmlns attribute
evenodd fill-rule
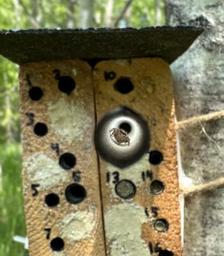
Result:
<svg viewBox="0 0 224 256"><path fill-rule="evenodd" d="M127 202L112 205L106 209L104 218L111 256L150 255L141 237L141 226L147 222L143 207Z"/></svg>

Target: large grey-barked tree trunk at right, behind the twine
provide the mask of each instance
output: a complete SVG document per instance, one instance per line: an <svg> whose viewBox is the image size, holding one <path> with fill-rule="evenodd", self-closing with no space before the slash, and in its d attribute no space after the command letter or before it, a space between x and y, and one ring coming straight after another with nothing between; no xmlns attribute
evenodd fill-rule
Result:
<svg viewBox="0 0 224 256"><path fill-rule="evenodd" d="M172 65L177 120L224 109L224 2L166 0L170 25L206 30ZM182 166L194 184L223 177L224 120L186 127L180 135ZM184 255L224 253L224 188L186 198Z"/></svg>

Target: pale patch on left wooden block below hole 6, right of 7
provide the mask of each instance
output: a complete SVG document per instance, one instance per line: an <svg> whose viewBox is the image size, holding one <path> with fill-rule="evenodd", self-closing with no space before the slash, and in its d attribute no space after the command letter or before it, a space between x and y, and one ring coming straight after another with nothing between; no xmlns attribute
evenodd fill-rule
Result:
<svg viewBox="0 0 224 256"><path fill-rule="evenodd" d="M97 207L90 205L88 209L67 214L60 223L61 237L69 241L80 241L89 238L97 224Z"/></svg>

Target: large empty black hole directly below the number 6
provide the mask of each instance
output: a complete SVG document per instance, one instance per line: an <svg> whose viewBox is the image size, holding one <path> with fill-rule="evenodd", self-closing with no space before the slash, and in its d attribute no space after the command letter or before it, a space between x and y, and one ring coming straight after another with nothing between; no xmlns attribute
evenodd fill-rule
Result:
<svg viewBox="0 0 224 256"><path fill-rule="evenodd" d="M71 184L65 190L65 196L71 204L79 204L86 198L86 189L79 184Z"/></svg>

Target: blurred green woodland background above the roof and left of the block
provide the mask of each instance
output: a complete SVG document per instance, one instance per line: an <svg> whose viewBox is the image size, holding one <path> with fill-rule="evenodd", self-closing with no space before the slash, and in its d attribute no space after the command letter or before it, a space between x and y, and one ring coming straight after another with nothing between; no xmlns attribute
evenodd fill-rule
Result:
<svg viewBox="0 0 224 256"><path fill-rule="evenodd" d="M87 17L83 13L88 12ZM164 24L163 0L0 0L0 29L141 28ZM22 256L26 236L18 66L0 56L0 256Z"/></svg>

